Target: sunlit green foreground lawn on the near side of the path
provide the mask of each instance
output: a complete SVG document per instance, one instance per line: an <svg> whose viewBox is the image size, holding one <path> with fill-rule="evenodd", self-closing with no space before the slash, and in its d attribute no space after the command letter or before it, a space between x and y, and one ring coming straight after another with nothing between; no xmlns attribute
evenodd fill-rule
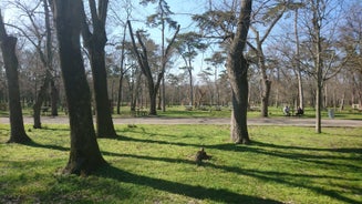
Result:
<svg viewBox="0 0 362 204"><path fill-rule="evenodd" d="M68 125L27 126L29 145L6 144L0 124L0 203L361 203L362 128L249 126L251 145L229 125L116 125L100 139L110 166L61 175ZM210 161L197 166L204 146Z"/></svg>

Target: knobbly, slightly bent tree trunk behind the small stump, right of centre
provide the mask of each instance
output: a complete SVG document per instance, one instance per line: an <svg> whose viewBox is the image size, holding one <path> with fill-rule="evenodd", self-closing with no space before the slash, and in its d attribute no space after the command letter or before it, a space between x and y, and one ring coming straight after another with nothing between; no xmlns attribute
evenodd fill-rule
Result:
<svg viewBox="0 0 362 204"><path fill-rule="evenodd" d="M251 0L240 0L238 29L228 54L228 75L232 91L231 131L232 142L250 143L247 126L248 109L248 62L244 58L244 49L250 24Z"/></svg>

